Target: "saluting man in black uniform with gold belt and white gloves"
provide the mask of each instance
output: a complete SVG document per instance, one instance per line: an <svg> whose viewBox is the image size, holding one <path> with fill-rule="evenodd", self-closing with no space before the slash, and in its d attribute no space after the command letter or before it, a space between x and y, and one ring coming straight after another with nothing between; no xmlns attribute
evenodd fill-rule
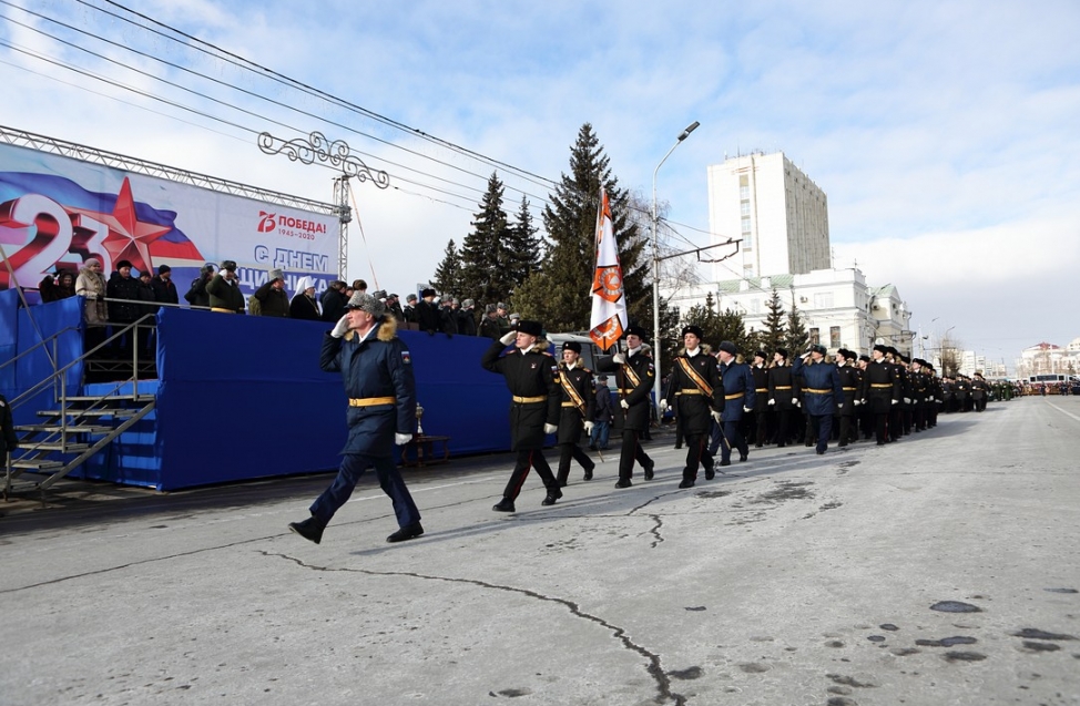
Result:
<svg viewBox="0 0 1080 706"><path fill-rule="evenodd" d="M543 458L544 437L558 431L561 392L559 367L547 354L542 334L540 321L521 321L517 330L491 341L480 359L483 369L501 375L510 389L510 450L518 454L502 500L492 508L496 512L514 512L513 503L532 468L548 491L540 504L553 505L562 498L559 481ZM507 351L511 344L513 349Z"/></svg>

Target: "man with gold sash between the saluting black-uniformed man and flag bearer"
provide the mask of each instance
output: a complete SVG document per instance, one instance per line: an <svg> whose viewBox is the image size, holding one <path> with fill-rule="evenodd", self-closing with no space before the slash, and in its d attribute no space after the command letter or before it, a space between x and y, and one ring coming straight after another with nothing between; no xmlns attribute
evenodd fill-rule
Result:
<svg viewBox="0 0 1080 706"><path fill-rule="evenodd" d="M562 344L562 362L558 374L561 388L559 416L559 487L570 478L570 460L573 459L585 469L584 480L592 480L595 462L581 450L582 430L592 433L597 408L597 393L593 388L592 370L581 365L581 344L568 340Z"/></svg>

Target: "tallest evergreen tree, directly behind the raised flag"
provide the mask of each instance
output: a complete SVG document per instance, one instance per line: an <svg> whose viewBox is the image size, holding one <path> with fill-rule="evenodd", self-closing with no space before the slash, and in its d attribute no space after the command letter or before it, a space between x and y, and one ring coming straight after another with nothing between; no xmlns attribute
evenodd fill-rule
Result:
<svg viewBox="0 0 1080 706"><path fill-rule="evenodd" d="M652 283L642 255L646 236L629 222L626 193L619 188L592 125L585 123L570 152L570 174L562 175L549 197L550 205L543 209L550 247L542 268L530 275L513 297L513 306L522 316L540 319L549 331L589 329L601 185L608 191L612 229L619 243L630 323L652 327Z"/></svg>

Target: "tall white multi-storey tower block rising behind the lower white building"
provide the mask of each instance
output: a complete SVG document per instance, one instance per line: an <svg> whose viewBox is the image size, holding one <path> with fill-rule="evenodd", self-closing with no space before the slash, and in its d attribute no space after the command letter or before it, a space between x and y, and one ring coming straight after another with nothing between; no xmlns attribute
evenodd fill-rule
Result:
<svg viewBox="0 0 1080 706"><path fill-rule="evenodd" d="M828 198L783 152L711 165L709 225L717 239L741 241L735 258L744 277L832 267Z"/></svg>

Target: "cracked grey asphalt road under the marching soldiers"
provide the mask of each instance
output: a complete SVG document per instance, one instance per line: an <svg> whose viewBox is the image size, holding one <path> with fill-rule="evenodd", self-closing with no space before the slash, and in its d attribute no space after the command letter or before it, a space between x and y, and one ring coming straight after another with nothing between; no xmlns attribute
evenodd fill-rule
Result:
<svg viewBox="0 0 1080 706"><path fill-rule="evenodd" d="M332 474L4 503L0 703L1080 704L1080 398L689 490L672 443L514 514L509 454L406 469L399 544L374 474L319 545L287 524Z"/></svg>

